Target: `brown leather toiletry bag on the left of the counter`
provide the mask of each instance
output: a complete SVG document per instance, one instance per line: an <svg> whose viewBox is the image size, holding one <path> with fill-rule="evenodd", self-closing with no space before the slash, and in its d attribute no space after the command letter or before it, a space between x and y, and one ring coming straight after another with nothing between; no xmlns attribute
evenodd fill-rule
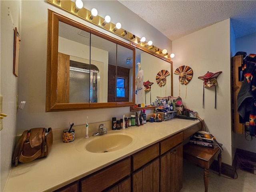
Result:
<svg viewBox="0 0 256 192"><path fill-rule="evenodd" d="M27 163L47 157L52 148L52 128L32 128L22 133L12 154L12 163Z"/></svg>

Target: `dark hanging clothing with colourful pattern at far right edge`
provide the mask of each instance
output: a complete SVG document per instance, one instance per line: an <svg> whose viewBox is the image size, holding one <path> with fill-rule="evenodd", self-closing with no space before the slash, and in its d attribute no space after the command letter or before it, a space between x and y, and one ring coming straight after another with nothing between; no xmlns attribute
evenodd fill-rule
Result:
<svg viewBox="0 0 256 192"><path fill-rule="evenodd" d="M249 54L242 64L244 80L237 96L240 123L249 122L250 135L256 136L256 55ZM253 78L254 77L254 78Z"/></svg>

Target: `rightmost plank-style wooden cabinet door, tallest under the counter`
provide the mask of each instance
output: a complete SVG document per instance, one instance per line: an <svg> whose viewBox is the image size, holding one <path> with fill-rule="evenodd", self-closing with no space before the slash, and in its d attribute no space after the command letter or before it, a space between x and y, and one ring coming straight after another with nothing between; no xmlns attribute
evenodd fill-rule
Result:
<svg viewBox="0 0 256 192"><path fill-rule="evenodd" d="M160 156L160 192L179 192L182 189L182 144Z"/></svg>

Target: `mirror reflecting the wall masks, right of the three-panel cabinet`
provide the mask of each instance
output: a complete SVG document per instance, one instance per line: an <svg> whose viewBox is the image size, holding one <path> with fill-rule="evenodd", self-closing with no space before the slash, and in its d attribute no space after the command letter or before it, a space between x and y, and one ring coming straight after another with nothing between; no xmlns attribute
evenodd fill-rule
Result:
<svg viewBox="0 0 256 192"><path fill-rule="evenodd" d="M135 103L141 104L143 106L148 106L150 108L150 104L156 100L157 96L165 97L172 96L172 62L170 60L160 58L154 54L149 54L149 51L137 46L136 48L136 86L135 86ZM138 63L140 63L140 72ZM152 70L154 69L154 70ZM156 76L159 76L158 72L162 70L168 71L170 75L166 76L166 84L163 86L159 86L159 81L156 80ZM152 82L150 86L150 90L145 90L144 86L141 86L138 83L138 79L143 74L142 82ZM142 107L144 108L144 107ZM154 107L151 107L154 108ZM141 110L140 108L131 107L131 110Z"/></svg>

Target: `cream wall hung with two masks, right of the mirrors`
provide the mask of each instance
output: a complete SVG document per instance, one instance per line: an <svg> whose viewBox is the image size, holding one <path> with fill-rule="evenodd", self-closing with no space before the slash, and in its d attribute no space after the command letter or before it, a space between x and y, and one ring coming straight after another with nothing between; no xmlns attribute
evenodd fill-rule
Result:
<svg viewBox="0 0 256 192"><path fill-rule="evenodd" d="M223 144L222 162L232 165L231 149L231 105L230 105L230 19L224 20L172 42L175 53L173 70L179 66L190 66L194 72L192 80L179 85L174 74L174 96L179 95L187 108L198 112L206 128L218 142ZM203 81L199 76L206 72L222 73L218 76L217 105L214 108L215 89L205 88L202 108ZM187 92L187 96L186 96Z"/></svg>

